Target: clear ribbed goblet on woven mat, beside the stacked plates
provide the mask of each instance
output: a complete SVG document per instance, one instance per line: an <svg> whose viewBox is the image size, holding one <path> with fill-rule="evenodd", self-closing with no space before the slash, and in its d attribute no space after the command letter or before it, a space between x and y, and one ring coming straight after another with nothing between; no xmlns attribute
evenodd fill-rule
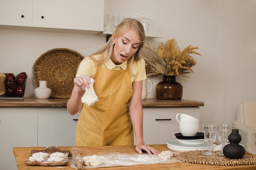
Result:
<svg viewBox="0 0 256 170"><path fill-rule="evenodd" d="M204 152L204 155L215 155L215 153L211 152L211 149L216 139L217 129L217 125L203 125L204 141L208 144L208 151Z"/></svg>

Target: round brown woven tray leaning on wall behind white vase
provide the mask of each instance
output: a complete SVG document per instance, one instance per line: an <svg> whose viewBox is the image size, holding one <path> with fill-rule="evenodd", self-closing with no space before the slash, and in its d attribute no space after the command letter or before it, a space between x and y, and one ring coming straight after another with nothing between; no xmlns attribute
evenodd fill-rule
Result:
<svg viewBox="0 0 256 170"><path fill-rule="evenodd" d="M76 51L58 48L43 53L34 63L33 77L36 87L39 81L47 81L51 97L70 98L74 77L83 56Z"/></svg>

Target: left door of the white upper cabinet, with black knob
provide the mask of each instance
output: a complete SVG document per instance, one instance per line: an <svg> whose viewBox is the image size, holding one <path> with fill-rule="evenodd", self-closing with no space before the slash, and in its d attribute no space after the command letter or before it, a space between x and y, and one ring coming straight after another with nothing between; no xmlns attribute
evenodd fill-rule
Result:
<svg viewBox="0 0 256 170"><path fill-rule="evenodd" d="M0 25L32 26L33 0L1 0Z"/></svg>

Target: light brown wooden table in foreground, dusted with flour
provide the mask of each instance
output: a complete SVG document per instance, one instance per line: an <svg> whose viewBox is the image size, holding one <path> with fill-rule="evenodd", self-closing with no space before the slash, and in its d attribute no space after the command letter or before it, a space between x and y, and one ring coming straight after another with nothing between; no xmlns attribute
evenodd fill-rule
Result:
<svg viewBox="0 0 256 170"><path fill-rule="evenodd" d="M151 145L158 151L168 150L164 145ZM70 150L72 147L59 147L64 150ZM89 155L109 155L109 154L135 154L135 146L89 146L77 147L80 149L82 156ZM25 147L13 148L13 153L16 159L18 170L74 170L70 166L43 167L43 166L27 166L25 160L29 157L32 149L43 150L45 147ZM246 153L248 154L248 153ZM137 165L137 166L115 166L108 168L94 168L92 170L256 170L256 165L241 165L241 166L212 166L201 165L194 163L169 163L169 164L154 164L154 165Z"/></svg>

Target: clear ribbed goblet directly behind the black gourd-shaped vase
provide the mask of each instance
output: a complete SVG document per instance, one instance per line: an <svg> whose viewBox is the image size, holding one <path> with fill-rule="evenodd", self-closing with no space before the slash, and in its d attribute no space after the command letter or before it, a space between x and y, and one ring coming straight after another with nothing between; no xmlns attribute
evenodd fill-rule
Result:
<svg viewBox="0 0 256 170"><path fill-rule="evenodd" d="M229 141L228 137L229 134L231 133L231 126L230 125L218 125L218 139L220 143L222 144L220 152L217 152L219 155L224 155L223 154L223 148L226 145L227 141Z"/></svg>

